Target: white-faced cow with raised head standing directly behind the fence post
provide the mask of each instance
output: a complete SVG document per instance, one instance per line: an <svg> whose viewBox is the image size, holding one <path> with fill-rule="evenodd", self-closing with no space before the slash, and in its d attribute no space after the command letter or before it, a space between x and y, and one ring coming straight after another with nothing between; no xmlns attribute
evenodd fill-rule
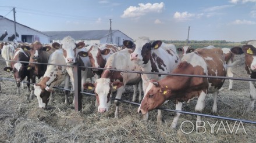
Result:
<svg viewBox="0 0 256 143"><path fill-rule="evenodd" d="M84 47L84 42L76 43L71 36L66 36L62 40L63 57L67 65L79 64L80 66L91 67L90 60L87 55L87 49ZM74 68L67 67L67 73L70 76L72 87L74 87ZM83 84L87 78L92 78L93 72L90 68L81 68L81 89L83 91ZM74 100L73 100L74 104Z"/></svg>

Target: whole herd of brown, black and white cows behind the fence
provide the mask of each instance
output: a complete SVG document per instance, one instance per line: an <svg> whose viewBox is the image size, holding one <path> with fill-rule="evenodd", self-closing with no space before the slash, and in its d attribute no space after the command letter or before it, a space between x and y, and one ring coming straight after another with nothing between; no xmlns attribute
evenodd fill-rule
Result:
<svg viewBox="0 0 256 143"><path fill-rule="evenodd" d="M193 76L172 76L166 74L189 74L209 76L233 77L232 66L234 54L245 54L246 71L251 78L256 78L256 41L249 41L242 47L216 48L214 46L191 49L189 46L177 48L183 52L180 59L175 45L162 41L150 42L147 37L140 37L133 41L123 41L125 48L119 49L112 44L76 43L70 36L63 38L61 43L42 45L22 43L13 45L1 43L2 57L6 61L4 71L12 72L17 84L17 93L20 94L20 83L27 78L30 98L37 96L40 108L45 108L51 102L53 86L65 82L65 89L69 82L74 87L74 69L72 66L79 63L81 68L82 89L93 90L96 96L95 105L98 112L108 112L112 93L116 91L116 98L120 99L126 85L133 85L132 101L141 102L138 112L143 114L143 120L148 119L148 112L161 106L168 100L175 101L176 110L182 110L182 103L189 102L197 97L195 111L201 112L205 107L205 97L208 93L214 95L213 112L217 112L217 97L225 79L201 78ZM24 63L27 62L27 63ZM28 63L29 62L29 63ZM38 64L45 63L45 64ZM47 63L51 65L47 65ZM58 64L58 65L56 65ZM97 68L105 68L97 69ZM121 72L111 69L121 69L134 72ZM136 72L140 71L140 72ZM140 74L141 72L160 72L162 74ZM40 79L35 83L35 78ZM87 82L87 79L91 82ZM93 80L94 78L94 80ZM29 83L35 83L30 90ZM143 89L143 90L142 90ZM230 80L229 90L232 89ZM144 97L141 97L143 91ZM69 92L64 91L66 104L69 103ZM256 82L250 82L251 102L247 111L253 111L256 100ZM119 101L115 101L115 118L118 118ZM172 127L177 126L180 113L176 113ZM158 110L157 120L161 122L161 110ZM197 120L201 120L197 116Z"/></svg>

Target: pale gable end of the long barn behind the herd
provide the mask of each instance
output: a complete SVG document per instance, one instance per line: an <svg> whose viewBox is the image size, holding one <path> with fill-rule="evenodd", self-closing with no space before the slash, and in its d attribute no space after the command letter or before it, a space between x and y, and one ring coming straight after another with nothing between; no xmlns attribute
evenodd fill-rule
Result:
<svg viewBox="0 0 256 143"><path fill-rule="evenodd" d="M107 41L107 39L108 39L108 41ZM121 45L123 45L124 40L133 41L133 39L129 38L129 36L126 36L125 34L123 34L120 31L112 32L112 43L113 44L121 46ZM101 38L100 43L110 43L110 35L105 36L104 38Z"/></svg>

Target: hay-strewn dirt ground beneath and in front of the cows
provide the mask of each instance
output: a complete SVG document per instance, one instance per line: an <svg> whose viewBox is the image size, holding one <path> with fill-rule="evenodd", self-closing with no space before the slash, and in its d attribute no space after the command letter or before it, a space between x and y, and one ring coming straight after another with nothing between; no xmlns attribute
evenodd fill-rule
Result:
<svg viewBox="0 0 256 143"><path fill-rule="evenodd" d="M233 67L234 77L248 78L244 55L236 56L237 59L241 62ZM13 79L11 73L3 71L4 67L5 62L0 61L0 77ZM119 118L115 119L113 101L109 111L101 114L94 107L94 96L84 95L83 110L76 112L72 104L65 104L61 90L55 90L51 105L39 109L37 98L27 99L27 89L22 89L22 94L17 95L15 82L0 82L0 142L255 142L256 138L255 124L242 123L243 126L238 126L238 122L234 125L234 121L207 117L202 117L205 130L197 133L192 126L195 126L196 116L187 114L180 115L177 128L172 129L170 124L175 113L167 111L162 111L162 124L157 123L156 110L150 112L147 122L143 122L137 113L138 107L123 102L120 103ZM230 91L227 90L228 85L229 81L225 80L224 89L218 97L218 112L211 112L214 100L209 94L202 113L256 121L255 109L246 112L250 101L248 81L234 80ZM122 99L131 101L132 94L132 87L127 86ZM73 101L73 96L69 98ZM183 111L195 112L196 101L183 104ZM175 109L171 101L163 107ZM216 126L211 130L209 124ZM230 130L234 127L234 130L231 132L229 127Z"/></svg>

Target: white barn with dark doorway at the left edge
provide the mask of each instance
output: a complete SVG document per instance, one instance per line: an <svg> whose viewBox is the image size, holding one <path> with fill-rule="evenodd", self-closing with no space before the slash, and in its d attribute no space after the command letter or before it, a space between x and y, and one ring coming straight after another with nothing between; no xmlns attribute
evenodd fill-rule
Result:
<svg viewBox="0 0 256 143"><path fill-rule="evenodd" d="M1 36L5 34L5 31L8 33L3 39ZM27 27L26 25L16 22L16 32L19 37L16 37L13 42L28 42L33 43L35 41L40 41L41 43L49 43L50 39L47 34L44 32L34 30L33 28ZM7 19L6 17L0 16L0 41L9 42L8 37L15 34L15 25L14 21Z"/></svg>

